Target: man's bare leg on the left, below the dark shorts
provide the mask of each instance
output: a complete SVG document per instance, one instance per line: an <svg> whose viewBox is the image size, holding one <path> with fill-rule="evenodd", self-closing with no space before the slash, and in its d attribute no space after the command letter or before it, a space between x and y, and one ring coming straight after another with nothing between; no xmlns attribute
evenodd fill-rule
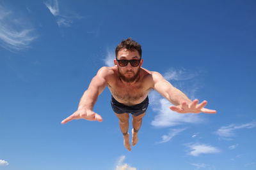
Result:
<svg viewBox="0 0 256 170"><path fill-rule="evenodd" d="M131 151L131 144L129 141L129 133L128 133L128 129L129 129L129 114L128 113L122 113L122 114L116 114L116 117L119 118L119 126L120 129L123 133L123 137L124 137L124 146L125 148L127 148L127 150Z"/></svg>

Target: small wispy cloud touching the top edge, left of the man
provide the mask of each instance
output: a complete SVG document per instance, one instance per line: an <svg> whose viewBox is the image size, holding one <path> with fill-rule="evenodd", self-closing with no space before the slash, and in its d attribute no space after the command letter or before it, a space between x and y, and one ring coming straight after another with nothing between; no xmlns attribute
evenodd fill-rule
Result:
<svg viewBox="0 0 256 170"><path fill-rule="evenodd" d="M73 20L82 18L76 13L63 14L63 11L60 11L58 0L48 0L45 3L45 6L56 18L57 24L61 27L70 27Z"/></svg>

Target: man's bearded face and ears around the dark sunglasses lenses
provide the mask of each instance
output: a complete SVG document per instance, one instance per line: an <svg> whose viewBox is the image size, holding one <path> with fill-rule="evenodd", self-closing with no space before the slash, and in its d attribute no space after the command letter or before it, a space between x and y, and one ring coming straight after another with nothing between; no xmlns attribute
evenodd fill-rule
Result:
<svg viewBox="0 0 256 170"><path fill-rule="evenodd" d="M118 52L116 58L118 60L139 60L140 54L138 53L137 50L129 51L126 48L124 48ZM140 64L137 67L132 67L130 62L125 67L119 66L118 61L116 59L114 60L114 62L115 65L118 66L120 78L129 83L136 80L136 78L139 76L140 67L142 66L143 59L141 59Z"/></svg>

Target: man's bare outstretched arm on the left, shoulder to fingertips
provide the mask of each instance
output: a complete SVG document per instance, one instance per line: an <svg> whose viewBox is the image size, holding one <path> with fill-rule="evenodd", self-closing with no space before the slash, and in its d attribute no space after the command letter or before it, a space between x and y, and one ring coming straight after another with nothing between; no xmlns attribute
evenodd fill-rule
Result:
<svg viewBox="0 0 256 170"><path fill-rule="evenodd" d="M83 118L85 120L97 120L102 122L102 117L93 111L93 106L98 96L108 85L108 75L111 74L109 67L101 67L95 77L93 77L88 89L84 92L76 112L65 118L61 124L65 124L74 119Z"/></svg>

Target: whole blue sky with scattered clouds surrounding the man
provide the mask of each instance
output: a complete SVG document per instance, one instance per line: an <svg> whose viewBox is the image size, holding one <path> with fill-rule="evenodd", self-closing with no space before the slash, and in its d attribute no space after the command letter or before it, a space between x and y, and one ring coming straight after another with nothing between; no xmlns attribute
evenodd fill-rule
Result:
<svg viewBox="0 0 256 170"><path fill-rule="evenodd" d="M0 1L0 169L256 169L255 1ZM150 92L128 152L108 88L74 120L88 83L131 37L216 115L180 115ZM131 131L131 128L130 128Z"/></svg>

